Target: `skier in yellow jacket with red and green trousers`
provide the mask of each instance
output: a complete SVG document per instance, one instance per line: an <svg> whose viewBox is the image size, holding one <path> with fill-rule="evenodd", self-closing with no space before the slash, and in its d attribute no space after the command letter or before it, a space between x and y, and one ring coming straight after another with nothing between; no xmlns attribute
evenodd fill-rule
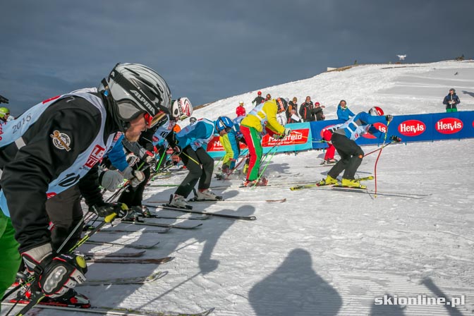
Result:
<svg viewBox="0 0 474 316"><path fill-rule="evenodd" d="M284 138L290 135L291 130L281 126L277 121L277 114L285 111L286 104L286 99L282 97L276 100L270 99L253 108L241 121L241 132L250 154L247 177L243 182L243 186L267 185L265 178L257 183L263 152L262 133L269 133L270 136L275 138Z"/></svg>

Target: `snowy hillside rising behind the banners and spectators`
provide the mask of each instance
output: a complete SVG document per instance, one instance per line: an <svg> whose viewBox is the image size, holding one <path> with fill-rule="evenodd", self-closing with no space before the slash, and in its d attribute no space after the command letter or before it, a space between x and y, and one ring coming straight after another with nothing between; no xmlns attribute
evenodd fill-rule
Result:
<svg viewBox="0 0 474 316"><path fill-rule="evenodd" d="M229 85L232 83L229 82ZM353 66L345 71L329 71L315 77L284 85L262 87L263 97L298 98L309 95L313 102L326 106L326 119L336 119L337 105L345 99L351 111L367 111L379 106L386 113L424 114L444 112L443 98L454 87L461 104L459 111L474 110L474 61L439 61L437 63L376 64ZM257 90L221 99L197 109L197 118L235 117L239 101L247 112L253 108ZM193 102L193 100L191 100ZM187 123L187 122L185 122Z"/></svg>

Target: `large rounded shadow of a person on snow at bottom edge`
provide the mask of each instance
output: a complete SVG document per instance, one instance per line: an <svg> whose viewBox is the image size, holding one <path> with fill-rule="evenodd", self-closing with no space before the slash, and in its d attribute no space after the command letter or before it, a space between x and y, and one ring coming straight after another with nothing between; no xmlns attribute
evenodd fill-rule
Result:
<svg viewBox="0 0 474 316"><path fill-rule="evenodd" d="M255 315L337 315L342 298L312 269L311 255L296 248L268 277L249 292Z"/></svg>

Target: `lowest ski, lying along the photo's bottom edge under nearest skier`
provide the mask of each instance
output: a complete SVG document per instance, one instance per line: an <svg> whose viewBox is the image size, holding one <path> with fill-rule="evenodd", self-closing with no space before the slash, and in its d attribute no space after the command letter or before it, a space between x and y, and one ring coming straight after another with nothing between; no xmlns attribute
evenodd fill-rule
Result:
<svg viewBox="0 0 474 316"><path fill-rule="evenodd" d="M1 305L14 305L15 303L1 303ZM26 306L28 303L17 303L18 306ZM133 308L111 308L107 306L91 306L90 308L73 308L59 305L36 305L37 309L64 310L68 312L90 312L102 315L128 315L128 316L207 316L214 308L203 312L153 312L149 310L135 310Z"/></svg>

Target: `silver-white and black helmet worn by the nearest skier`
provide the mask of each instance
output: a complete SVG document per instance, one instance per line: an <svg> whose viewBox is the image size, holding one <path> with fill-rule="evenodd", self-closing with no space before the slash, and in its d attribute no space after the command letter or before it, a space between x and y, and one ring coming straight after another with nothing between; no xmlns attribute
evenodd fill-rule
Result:
<svg viewBox="0 0 474 316"><path fill-rule="evenodd" d="M114 119L122 131L138 115L148 114L150 126L169 114L171 92L168 84L152 68L140 63L117 63L107 79L102 80L99 91L114 100Z"/></svg>

